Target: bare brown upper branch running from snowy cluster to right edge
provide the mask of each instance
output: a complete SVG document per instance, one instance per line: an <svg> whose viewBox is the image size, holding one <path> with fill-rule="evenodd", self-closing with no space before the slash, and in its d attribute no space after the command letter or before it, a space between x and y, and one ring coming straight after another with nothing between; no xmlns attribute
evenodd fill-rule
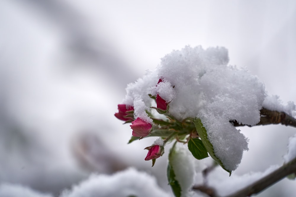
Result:
<svg viewBox="0 0 296 197"><path fill-rule="evenodd" d="M296 127L296 119L292 116L278 111L271 111L266 108L260 110L260 122L257 125L282 124L285 126ZM236 120L230 121L234 126L250 126L238 123ZM251 127L251 126L250 126Z"/></svg>

